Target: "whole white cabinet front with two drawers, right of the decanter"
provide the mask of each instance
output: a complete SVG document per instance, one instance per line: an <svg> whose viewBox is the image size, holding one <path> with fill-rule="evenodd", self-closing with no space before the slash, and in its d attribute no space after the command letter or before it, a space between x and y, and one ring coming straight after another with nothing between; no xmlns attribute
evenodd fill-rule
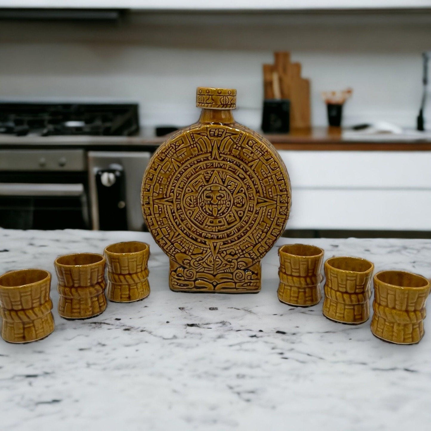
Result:
<svg viewBox="0 0 431 431"><path fill-rule="evenodd" d="M280 150L290 229L429 231L431 153Z"/></svg>

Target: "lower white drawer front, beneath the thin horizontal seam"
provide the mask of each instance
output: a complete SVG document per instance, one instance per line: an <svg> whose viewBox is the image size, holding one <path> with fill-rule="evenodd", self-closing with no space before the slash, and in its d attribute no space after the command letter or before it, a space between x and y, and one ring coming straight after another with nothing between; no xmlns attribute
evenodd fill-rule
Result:
<svg viewBox="0 0 431 431"><path fill-rule="evenodd" d="M293 189L287 229L431 230L431 190Z"/></svg>

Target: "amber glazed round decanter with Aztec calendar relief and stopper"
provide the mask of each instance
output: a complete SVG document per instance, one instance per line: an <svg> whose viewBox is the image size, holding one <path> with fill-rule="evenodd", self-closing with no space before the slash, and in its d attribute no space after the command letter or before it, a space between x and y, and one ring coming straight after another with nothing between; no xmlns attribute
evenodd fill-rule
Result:
<svg viewBox="0 0 431 431"><path fill-rule="evenodd" d="M281 157L232 116L236 90L197 89L199 121L154 153L142 212L169 256L169 286L182 292L257 293L260 261L290 210Z"/></svg>

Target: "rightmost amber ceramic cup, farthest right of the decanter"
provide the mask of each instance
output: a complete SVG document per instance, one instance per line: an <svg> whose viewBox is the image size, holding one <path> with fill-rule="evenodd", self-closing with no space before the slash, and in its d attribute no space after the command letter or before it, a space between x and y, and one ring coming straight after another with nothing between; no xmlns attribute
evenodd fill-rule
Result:
<svg viewBox="0 0 431 431"><path fill-rule="evenodd" d="M374 276L374 315L371 332L395 344L416 344L424 336L425 301L430 281L404 271Z"/></svg>

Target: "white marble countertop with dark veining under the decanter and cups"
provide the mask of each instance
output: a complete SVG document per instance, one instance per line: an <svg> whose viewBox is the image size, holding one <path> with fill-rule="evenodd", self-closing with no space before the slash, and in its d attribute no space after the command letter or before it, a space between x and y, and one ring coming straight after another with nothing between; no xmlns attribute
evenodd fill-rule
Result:
<svg viewBox="0 0 431 431"><path fill-rule="evenodd" d="M278 302L278 257L262 262L257 295L182 294L149 234L0 229L0 272L43 268L60 254L99 252L119 240L150 243L151 294L69 322L54 309L45 340L0 340L4 430L429 430L431 319L413 346L373 337ZM278 244L292 242L282 238ZM431 240L297 242L361 256L375 270L431 276ZM55 307L54 307L55 308Z"/></svg>

